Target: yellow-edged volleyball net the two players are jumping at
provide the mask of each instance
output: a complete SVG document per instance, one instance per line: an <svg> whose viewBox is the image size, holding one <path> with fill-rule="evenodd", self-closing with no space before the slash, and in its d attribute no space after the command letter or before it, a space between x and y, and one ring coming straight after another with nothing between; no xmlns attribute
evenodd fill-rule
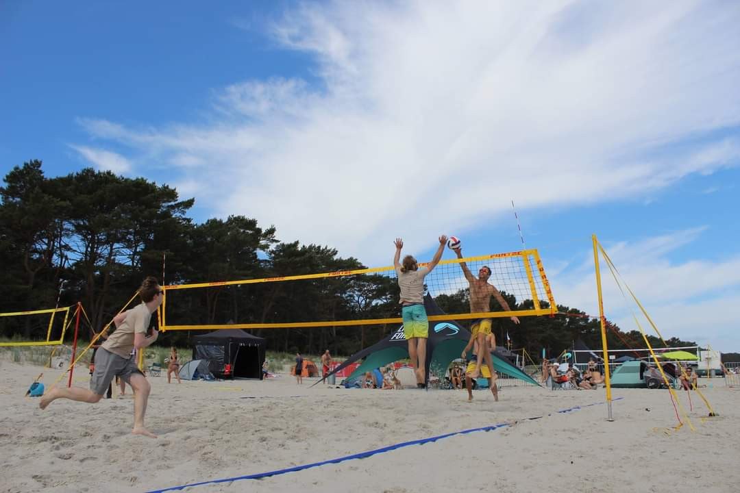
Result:
<svg viewBox="0 0 740 493"><path fill-rule="evenodd" d="M420 263L420 268L425 263ZM488 283L508 302L470 313L469 284L462 269ZM551 315L556 303L535 249L441 261L425 277L425 291L445 310L442 319ZM399 288L392 266L350 271L201 282L164 286L160 330L343 327L400 323ZM499 309L500 308L500 309Z"/></svg>

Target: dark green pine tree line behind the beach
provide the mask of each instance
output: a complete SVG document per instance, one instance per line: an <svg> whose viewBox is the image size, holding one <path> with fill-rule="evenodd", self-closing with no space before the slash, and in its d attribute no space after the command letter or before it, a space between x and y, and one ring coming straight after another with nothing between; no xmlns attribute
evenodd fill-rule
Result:
<svg viewBox="0 0 740 493"><path fill-rule="evenodd" d="M110 171L46 177L39 160L15 166L0 188L0 312L81 302L89 336L104 327L129 300L144 276L188 284L295 276L366 268L325 245L281 242L275 225L263 227L240 215L196 223L188 217L194 198L175 188ZM436 297L447 313L464 313L468 290ZM513 310L531 300L503 293ZM398 286L387 276L342 276L296 282L170 290L167 324L280 323L397 317ZM495 300L493 310L498 310ZM532 355L544 347L557 356L582 339L601 347L598 320L558 306L565 316L525 317L514 325L497 320L499 344ZM349 355L382 339L394 326L254 330L270 350ZM0 336L42 339L47 327L27 318L0 319ZM189 345L191 331L167 332L161 344ZM630 342L631 341L631 342ZM653 338L657 345L659 341ZM670 339L670 345L693 342ZM610 324L610 348L644 347L637 331Z"/></svg>

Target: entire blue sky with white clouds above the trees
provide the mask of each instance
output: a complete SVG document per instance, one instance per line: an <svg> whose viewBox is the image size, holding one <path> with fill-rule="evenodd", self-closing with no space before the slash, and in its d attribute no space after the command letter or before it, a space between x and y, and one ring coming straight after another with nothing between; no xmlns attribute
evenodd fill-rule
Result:
<svg viewBox="0 0 740 493"><path fill-rule="evenodd" d="M740 351L737 25L726 1L5 1L0 172L144 176L373 266L398 236L518 250L513 199L559 303L596 313L597 234L665 336Z"/></svg>

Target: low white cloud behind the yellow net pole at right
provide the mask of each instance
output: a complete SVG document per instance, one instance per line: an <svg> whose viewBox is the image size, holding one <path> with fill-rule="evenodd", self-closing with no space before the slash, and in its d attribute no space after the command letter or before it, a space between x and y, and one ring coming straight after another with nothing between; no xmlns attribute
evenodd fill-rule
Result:
<svg viewBox="0 0 740 493"><path fill-rule="evenodd" d="M662 336L708 343L724 352L740 351L740 327L734 311L740 306L740 255L716 261L669 260L673 251L705 232L710 234L704 228L694 228L604 248L619 271L620 282L626 282ZM625 285L623 296L608 265L602 261L600 266L608 319L622 330L638 330L632 316L635 313L645 332L655 336ZM592 251L582 253L579 265L549 276L556 302L598 316Z"/></svg>

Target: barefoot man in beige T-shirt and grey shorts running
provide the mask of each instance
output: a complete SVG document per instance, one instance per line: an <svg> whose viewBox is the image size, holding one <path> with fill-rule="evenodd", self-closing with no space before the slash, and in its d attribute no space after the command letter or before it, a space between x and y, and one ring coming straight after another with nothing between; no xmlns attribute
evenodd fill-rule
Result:
<svg viewBox="0 0 740 493"><path fill-rule="evenodd" d="M90 379L90 390L80 387L54 387L41 397L39 407L46 409L59 398L91 404L98 402L112 379L118 375L134 390L134 427L131 432L134 435L157 438L157 435L144 428L144 414L147 412L147 400L152 387L136 366L136 358L131 356L131 351L134 348L141 350L157 340L158 331L155 329L152 336L147 337L147 329L152 313L162 303L163 293L155 277L149 276L144 279L138 292L141 305L115 316L113 319L115 332L95 353L95 371Z"/></svg>

